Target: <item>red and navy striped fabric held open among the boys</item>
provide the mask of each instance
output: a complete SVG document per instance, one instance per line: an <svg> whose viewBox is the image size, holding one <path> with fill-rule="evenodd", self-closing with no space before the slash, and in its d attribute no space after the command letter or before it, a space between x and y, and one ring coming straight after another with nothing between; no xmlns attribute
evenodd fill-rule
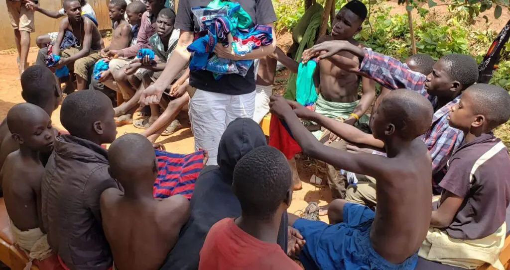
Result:
<svg viewBox="0 0 510 270"><path fill-rule="evenodd" d="M204 152L191 154L174 154L156 151L158 159L158 177L152 188L154 198L168 198L183 195L188 200L195 190L195 182L203 168Z"/></svg>

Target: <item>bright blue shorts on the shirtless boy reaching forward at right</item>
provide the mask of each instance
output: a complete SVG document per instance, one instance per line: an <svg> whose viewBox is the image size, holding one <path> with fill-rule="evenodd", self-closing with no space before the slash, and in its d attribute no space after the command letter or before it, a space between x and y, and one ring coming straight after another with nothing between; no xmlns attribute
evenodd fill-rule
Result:
<svg viewBox="0 0 510 270"><path fill-rule="evenodd" d="M292 227L307 241L299 255L306 270L412 270L418 253L400 264L382 258L372 248L370 228L375 212L367 206L345 203L343 222L329 225L322 221L298 219Z"/></svg>

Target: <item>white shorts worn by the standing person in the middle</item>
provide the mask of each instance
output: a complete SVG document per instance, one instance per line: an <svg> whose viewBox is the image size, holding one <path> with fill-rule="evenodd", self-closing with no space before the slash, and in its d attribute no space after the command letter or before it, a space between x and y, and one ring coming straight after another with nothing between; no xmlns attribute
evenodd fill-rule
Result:
<svg viewBox="0 0 510 270"><path fill-rule="evenodd" d="M230 122L253 118L256 91L244 95L227 95L197 89L188 103L195 150L209 152L206 165L217 165L218 145Z"/></svg>

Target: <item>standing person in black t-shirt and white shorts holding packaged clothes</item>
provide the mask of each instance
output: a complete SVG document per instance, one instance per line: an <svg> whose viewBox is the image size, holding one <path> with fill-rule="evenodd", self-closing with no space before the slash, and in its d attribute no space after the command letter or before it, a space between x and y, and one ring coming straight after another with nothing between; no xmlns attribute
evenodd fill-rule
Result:
<svg viewBox="0 0 510 270"><path fill-rule="evenodd" d="M190 52L186 48L193 42L194 34L200 31L198 21L191 9L205 7L209 2L210 0L179 1L175 18L175 28L181 30L179 43L168 60L169 64L163 74L154 85L142 92L140 97L142 105L158 104L163 91L188 63ZM225 59L247 60L263 58L272 53L276 47L273 24L276 21L276 15L271 0L236 0L235 2L238 2L250 15L253 25L271 26L273 43L255 49L242 57L235 55L232 46L224 48L221 44L217 44L214 49L216 55ZM189 116L195 137L195 149L207 150L209 152L207 165L216 165L218 143L228 123L239 117L252 118L253 116L255 103L253 65L245 77L228 74L223 75L219 80L216 80L210 71L191 71L190 86L197 89L189 102Z"/></svg>

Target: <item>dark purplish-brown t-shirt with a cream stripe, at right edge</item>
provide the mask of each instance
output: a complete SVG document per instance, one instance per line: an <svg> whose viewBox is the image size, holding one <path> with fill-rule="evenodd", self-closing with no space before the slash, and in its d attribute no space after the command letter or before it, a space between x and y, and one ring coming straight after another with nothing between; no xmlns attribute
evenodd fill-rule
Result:
<svg viewBox="0 0 510 270"><path fill-rule="evenodd" d="M464 198L453 222L445 228L450 237L480 239L503 224L510 202L509 175L508 150L492 133L482 134L453 153L439 184Z"/></svg>

